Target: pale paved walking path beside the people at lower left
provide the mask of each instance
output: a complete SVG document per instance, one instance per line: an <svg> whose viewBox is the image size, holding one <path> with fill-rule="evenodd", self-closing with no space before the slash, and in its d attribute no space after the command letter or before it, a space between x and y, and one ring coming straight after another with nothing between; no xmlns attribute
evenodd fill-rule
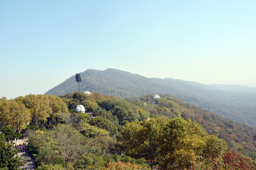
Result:
<svg viewBox="0 0 256 170"><path fill-rule="evenodd" d="M23 143L27 143L27 139L19 139L18 143L19 144L23 144ZM25 170L36 170L36 163L32 160L31 156L29 153L24 152L19 152L18 156L22 157L22 161L27 160L27 163L24 166L19 167L21 168L25 168Z"/></svg>

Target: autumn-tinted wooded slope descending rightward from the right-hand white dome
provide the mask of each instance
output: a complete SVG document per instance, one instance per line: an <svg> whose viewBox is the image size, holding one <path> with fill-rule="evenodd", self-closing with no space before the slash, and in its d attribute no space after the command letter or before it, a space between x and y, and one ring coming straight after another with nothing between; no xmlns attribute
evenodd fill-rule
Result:
<svg viewBox="0 0 256 170"><path fill-rule="evenodd" d="M237 123L230 119L225 119L209 110L182 102L170 95L160 95L156 99L156 104L148 104L147 101L153 98L153 95L134 97L127 99L153 115L166 116L168 118L181 117L191 119L201 124L204 130L210 135L225 139L229 148L240 152L245 152L248 156L256 155L256 129L248 127L245 124ZM146 104L145 104L146 103Z"/></svg>

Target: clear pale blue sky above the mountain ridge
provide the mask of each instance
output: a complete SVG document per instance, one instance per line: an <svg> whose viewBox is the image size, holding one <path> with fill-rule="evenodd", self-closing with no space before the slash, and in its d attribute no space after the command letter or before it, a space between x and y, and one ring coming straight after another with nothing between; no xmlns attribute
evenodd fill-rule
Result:
<svg viewBox="0 0 256 170"><path fill-rule="evenodd" d="M87 69L256 86L255 0L0 0L0 98Z"/></svg>

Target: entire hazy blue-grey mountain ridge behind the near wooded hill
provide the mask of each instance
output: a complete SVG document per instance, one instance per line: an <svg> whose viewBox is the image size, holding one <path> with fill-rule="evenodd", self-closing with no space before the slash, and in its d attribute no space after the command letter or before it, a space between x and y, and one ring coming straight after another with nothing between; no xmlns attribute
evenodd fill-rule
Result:
<svg viewBox="0 0 256 170"><path fill-rule="evenodd" d="M229 119L256 127L256 87L242 85L204 85L173 78L147 78L108 68L88 69L81 74L81 91L99 92L120 98L149 93L171 94L184 102L200 106ZM75 76L45 94L62 96L78 91Z"/></svg>

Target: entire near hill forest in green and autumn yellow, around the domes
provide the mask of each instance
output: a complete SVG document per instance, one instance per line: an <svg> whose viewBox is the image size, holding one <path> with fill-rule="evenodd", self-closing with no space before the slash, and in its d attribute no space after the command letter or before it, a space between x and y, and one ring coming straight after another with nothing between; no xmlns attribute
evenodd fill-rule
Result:
<svg viewBox="0 0 256 170"><path fill-rule="evenodd" d="M171 95L159 96L3 97L0 151L11 149L7 143L13 139L28 138L37 170L256 169L256 129ZM75 111L80 104L85 113ZM17 159L12 157L1 159L6 161L0 169Z"/></svg>

